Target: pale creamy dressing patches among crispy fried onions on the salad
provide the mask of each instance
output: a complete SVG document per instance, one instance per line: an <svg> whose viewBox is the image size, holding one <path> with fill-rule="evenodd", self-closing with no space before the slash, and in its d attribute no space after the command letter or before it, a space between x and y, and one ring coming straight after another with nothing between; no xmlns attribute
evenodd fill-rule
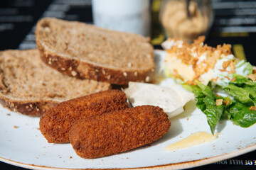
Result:
<svg viewBox="0 0 256 170"><path fill-rule="evenodd" d="M169 42L169 43L167 43ZM166 41L164 43L164 47L172 47L174 45L178 45L178 47L182 47L181 41L174 42ZM193 57L197 57L198 61L196 62L197 65L204 64L203 61L206 60L206 53L203 53L201 56L197 56L196 53L192 53ZM201 74L199 77L199 81L201 83L207 85L210 80L214 80L215 84L220 86L226 86L229 81L233 78L233 75L230 74L230 66L227 68L223 68L223 63L228 62L230 60L234 60L234 55L221 55L220 59L216 61L213 69L208 69L208 72ZM235 64L235 73L240 74L242 76L247 76L250 72L247 72L246 69L247 64L243 60ZM178 74L186 81L192 81L195 77L195 72L193 70L193 66L191 64L184 64L178 57L174 54L166 54L165 58L165 67L166 67L166 74ZM171 68L171 69L170 69Z"/></svg>

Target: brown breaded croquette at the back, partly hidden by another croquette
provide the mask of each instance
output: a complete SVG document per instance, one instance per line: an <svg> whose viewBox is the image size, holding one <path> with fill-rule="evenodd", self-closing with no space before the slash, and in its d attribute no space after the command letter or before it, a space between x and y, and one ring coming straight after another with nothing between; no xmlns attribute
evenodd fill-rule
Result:
<svg viewBox="0 0 256 170"><path fill-rule="evenodd" d="M64 101L46 111L40 118L40 130L49 143L69 142L69 131L75 120L128 108L127 97L119 90L100 91L95 94Z"/></svg>

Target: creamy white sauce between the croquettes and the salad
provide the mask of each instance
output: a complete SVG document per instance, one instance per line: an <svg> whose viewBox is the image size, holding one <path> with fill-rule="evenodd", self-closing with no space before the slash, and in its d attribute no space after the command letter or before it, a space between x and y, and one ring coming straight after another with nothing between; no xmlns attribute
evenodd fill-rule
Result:
<svg viewBox="0 0 256 170"><path fill-rule="evenodd" d="M124 90L132 106L151 105L163 108L169 118L183 112L183 106L192 96L156 84L129 82L129 88Z"/></svg>

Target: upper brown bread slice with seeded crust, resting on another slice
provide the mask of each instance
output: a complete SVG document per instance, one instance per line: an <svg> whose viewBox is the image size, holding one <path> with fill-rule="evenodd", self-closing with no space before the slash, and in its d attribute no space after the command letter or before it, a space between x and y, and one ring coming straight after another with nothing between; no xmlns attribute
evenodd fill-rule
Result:
<svg viewBox="0 0 256 170"><path fill-rule="evenodd" d="M73 77L123 85L149 82L154 74L154 48L141 35L43 18L36 44L46 64Z"/></svg>

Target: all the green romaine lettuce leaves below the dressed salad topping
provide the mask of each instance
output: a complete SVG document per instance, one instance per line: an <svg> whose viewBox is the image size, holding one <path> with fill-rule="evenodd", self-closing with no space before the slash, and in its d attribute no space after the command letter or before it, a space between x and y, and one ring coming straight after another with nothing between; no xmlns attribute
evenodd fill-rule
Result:
<svg viewBox="0 0 256 170"><path fill-rule="evenodd" d="M213 134L219 120L222 119L232 120L242 128L248 128L256 123L256 83L238 74L234 74L234 77L235 80L230 81L228 86L224 87L227 94L233 96L233 99L215 94L210 86L200 82L193 86L184 85L186 89L196 95L196 106L206 114ZM228 102L216 106L217 99Z"/></svg>

